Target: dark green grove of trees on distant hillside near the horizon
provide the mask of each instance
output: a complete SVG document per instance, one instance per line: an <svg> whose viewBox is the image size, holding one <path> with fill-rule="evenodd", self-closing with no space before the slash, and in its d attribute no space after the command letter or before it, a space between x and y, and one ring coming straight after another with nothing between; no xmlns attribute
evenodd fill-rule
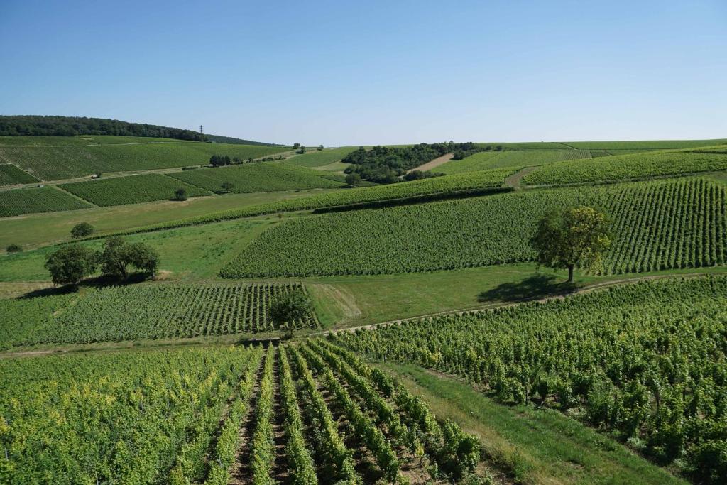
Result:
<svg viewBox="0 0 727 485"><path fill-rule="evenodd" d="M432 161L445 153L475 148L474 143L419 143L409 147L375 146L371 150L361 147L349 153L342 161L352 164L346 173L357 173L364 180L376 183L399 182L407 170Z"/></svg>

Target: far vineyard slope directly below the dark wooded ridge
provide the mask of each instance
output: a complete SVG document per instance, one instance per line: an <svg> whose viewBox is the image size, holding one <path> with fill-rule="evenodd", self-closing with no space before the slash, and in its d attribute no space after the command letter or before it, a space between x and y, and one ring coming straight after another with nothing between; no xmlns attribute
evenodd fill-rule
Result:
<svg viewBox="0 0 727 485"><path fill-rule="evenodd" d="M166 169L209 163L212 155L246 160L288 151L286 147L174 141L104 143L92 146L0 146L0 159L41 180L84 177L94 172Z"/></svg>

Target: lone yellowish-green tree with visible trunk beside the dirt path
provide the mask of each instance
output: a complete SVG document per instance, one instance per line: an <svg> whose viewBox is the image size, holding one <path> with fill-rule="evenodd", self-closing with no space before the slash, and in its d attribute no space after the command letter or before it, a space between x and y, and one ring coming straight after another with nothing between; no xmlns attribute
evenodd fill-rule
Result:
<svg viewBox="0 0 727 485"><path fill-rule="evenodd" d="M593 268L611 246L608 217L591 207L574 207L543 217L531 244L538 253L539 264L549 268L568 268L568 282L573 269Z"/></svg>

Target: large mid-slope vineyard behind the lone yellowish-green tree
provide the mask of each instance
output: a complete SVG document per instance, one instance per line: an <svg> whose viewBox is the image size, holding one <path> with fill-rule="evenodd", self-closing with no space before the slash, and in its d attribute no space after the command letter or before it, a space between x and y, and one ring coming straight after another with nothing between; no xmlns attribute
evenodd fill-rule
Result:
<svg viewBox="0 0 727 485"><path fill-rule="evenodd" d="M475 172L478 173L478 172ZM222 268L227 278L403 273L534 259L529 239L550 209L603 208L614 244L603 273L726 262L727 195L701 179L521 191L290 220Z"/></svg>

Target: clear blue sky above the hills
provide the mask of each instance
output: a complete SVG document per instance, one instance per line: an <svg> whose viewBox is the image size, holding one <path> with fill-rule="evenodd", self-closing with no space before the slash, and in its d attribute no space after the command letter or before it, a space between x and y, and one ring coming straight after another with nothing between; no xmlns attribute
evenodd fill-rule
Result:
<svg viewBox="0 0 727 485"><path fill-rule="evenodd" d="M0 0L0 114L307 145L727 137L727 1Z"/></svg>

